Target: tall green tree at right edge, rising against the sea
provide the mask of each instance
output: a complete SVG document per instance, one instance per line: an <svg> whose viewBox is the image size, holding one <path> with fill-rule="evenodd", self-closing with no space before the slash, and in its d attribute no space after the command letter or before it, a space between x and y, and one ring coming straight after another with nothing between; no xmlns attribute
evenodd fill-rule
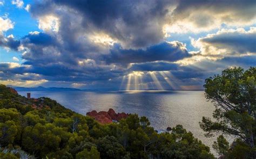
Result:
<svg viewBox="0 0 256 159"><path fill-rule="evenodd" d="M242 68L223 70L205 80L205 96L211 100L216 110L210 118L203 117L200 127L212 136L215 132L235 135L251 147L251 157L255 158L256 133L256 68L244 71Z"/></svg>

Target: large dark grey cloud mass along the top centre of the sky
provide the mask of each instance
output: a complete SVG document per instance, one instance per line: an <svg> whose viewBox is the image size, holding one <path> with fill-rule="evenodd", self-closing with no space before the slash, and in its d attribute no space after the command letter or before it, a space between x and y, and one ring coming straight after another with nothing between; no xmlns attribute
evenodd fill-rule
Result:
<svg viewBox="0 0 256 159"><path fill-rule="evenodd" d="M104 31L128 47L145 47L163 40L162 27L171 4L172 1L48 0L32 5L30 12L35 17L41 17L58 15L62 12L59 10L65 8L69 12L78 12L78 17L82 19L80 27L86 30ZM73 21L69 17L65 19Z"/></svg>

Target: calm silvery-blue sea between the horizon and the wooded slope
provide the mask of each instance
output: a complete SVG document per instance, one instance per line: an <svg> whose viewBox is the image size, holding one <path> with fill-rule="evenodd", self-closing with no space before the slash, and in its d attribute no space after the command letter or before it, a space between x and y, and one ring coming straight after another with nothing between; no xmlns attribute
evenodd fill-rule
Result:
<svg viewBox="0 0 256 159"><path fill-rule="evenodd" d="M19 92L25 96L26 92ZM198 122L212 117L214 106L207 102L204 91L147 91L147 92L31 92L31 97L49 97L78 112L107 111L137 113L149 118L155 129L183 125L196 138L212 147L215 139L205 138Z"/></svg>

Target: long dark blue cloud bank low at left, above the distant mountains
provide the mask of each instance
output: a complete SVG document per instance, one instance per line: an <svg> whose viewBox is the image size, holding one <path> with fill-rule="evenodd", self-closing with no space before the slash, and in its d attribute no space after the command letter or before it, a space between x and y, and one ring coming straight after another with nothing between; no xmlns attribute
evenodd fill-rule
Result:
<svg viewBox="0 0 256 159"><path fill-rule="evenodd" d="M112 70L107 66L67 67L64 64L49 64L47 66L17 65L17 63L0 63L0 70L9 77L15 75L38 74L49 81L102 81L124 74L123 70Z"/></svg>

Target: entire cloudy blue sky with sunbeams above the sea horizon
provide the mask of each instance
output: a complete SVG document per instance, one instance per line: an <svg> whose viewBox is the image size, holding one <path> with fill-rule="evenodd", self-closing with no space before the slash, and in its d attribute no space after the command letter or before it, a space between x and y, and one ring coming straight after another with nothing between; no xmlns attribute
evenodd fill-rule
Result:
<svg viewBox="0 0 256 159"><path fill-rule="evenodd" d="M256 1L0 0L0 83L198 90L256 66Z"/></svg>

